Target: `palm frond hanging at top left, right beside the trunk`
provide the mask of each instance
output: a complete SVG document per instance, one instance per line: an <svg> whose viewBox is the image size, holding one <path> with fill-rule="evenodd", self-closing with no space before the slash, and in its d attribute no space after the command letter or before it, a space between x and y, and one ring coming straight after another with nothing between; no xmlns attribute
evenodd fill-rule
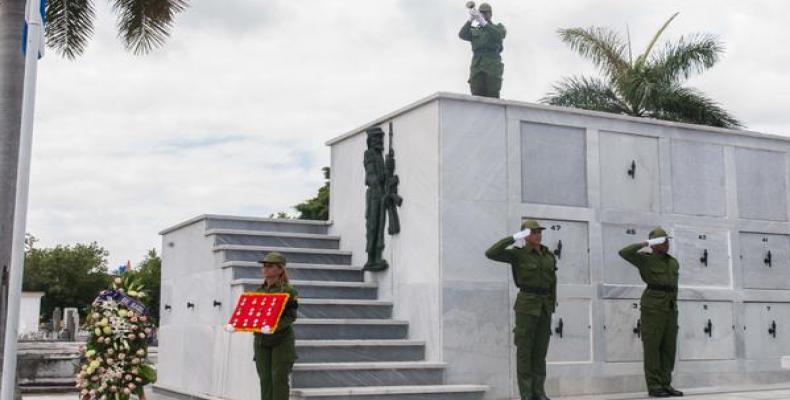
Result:
<svg viewBox="0 0 790 400"><path fill-rule="evenodd" d="M82 55L93 36L93 0L49 0L46 16L47 46L71 60Z"/></svg>

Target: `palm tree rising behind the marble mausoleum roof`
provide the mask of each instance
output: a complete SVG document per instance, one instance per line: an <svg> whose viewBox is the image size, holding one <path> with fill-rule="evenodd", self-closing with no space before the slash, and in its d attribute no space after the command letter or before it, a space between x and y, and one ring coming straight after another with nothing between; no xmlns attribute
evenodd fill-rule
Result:
<svg viewBox="0 0 790 400"><path fill-rule="evenodd" d="M645 52L636 58L631 53L630 38L623 41L610 29L560 29L562 41L592 61L603 77L565 78L541 102L692 124L741 127L716 101L700 90L682 85L689 75L703 72L719 60L724 49L716 37L681 37L654 51L661 34L677 15L661 26Z"/></svg>

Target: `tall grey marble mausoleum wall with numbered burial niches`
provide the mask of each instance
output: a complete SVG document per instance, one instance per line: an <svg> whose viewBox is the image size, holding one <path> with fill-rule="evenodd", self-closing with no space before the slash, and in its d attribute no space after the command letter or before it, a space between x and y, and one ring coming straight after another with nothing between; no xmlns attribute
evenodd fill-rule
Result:
<svg viewBox="0 0 790 400"><path fill-rule="evenodd" d="M790 379L787 339L769 333L790 324L787 139L453 94L373 123L390 119L408 217L392 268L369 278L430 359L448 362L448 381L488 384L490 399L517 393L516 291L483 252L527 217L552 227L547 246L563 244L550 394L643 389L643 285L617 250L659 224L682 263L679 385ZM360 132L329 143L333 233L355 262Z"/></svg>

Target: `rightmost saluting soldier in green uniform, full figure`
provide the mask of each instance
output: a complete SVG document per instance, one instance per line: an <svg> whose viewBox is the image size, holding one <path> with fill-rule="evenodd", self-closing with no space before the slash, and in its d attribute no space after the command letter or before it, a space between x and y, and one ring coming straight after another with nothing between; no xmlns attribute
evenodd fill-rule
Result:
<svg viewBox="0 0 790 400"><path fill-rule="evenodd" d="M668 254L667 232L655 228L649 240L626 246L620 256L639 268L647 284L641 299L645 381L650 397L683 396L672 387L678 336L678 261ZM640 252L650 247L652 253Z"/></svg>

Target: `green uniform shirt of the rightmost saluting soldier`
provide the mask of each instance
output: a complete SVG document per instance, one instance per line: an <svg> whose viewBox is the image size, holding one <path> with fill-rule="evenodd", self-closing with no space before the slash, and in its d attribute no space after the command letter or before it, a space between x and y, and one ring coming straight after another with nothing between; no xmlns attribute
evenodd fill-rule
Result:
<svg viewBox="0 0 790 400"><path fill-rule="evenodd" d="M669 254L639 252L644 243L635 243L620 250L620 256L639 269L639 275L648 285L664 286L674 292L647 289L642 293L642 308L677 310L678 275L680 265Z"/></svg>

